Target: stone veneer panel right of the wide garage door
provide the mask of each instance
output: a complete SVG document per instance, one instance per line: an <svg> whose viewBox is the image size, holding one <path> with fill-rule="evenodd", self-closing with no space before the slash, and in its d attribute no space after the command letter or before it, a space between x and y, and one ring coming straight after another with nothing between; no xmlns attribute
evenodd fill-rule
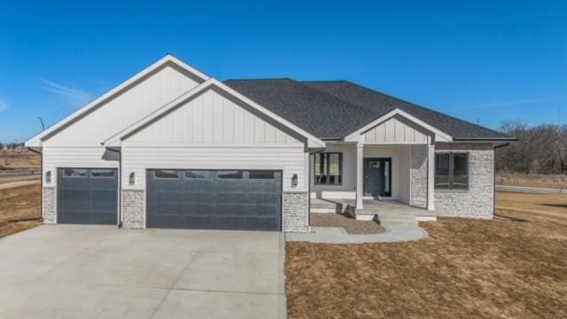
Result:
<svg viewBox="0 0 567 319"><path fill-rule="evenodd" d="M283 192L282 230L307 232L309 230L309 193Z"/></svg>

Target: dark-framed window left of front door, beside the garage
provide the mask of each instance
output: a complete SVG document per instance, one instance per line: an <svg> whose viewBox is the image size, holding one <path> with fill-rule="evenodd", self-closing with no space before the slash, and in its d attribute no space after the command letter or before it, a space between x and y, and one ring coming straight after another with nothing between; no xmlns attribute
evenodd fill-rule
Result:
<svg viewBox="0 0 567 319"><path fill-rule="evenodd" d="M322 152L315 154L315 185L343 183L343 154Z"/></svg>

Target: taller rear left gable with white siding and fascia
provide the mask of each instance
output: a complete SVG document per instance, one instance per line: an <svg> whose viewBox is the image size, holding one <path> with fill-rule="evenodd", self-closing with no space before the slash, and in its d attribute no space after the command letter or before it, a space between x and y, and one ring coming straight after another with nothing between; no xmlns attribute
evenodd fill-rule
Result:
<svg viewBox="0 0 567 319"><path fill-rule="evenodd" d="M140 119L208 78L206 74L167 54L114 89L31 137L26 141L26 146L41 147L48 140L50 145L97 144L99 136L107 136L116 127L123 128L124 123ZM53 138L54 136L58 138Z"/></svg>

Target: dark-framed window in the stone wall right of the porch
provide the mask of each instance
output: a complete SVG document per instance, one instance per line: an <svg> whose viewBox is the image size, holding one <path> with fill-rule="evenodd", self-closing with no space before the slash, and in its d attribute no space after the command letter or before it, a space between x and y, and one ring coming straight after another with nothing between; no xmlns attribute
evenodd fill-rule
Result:
<svg viewBox="0 0 567 319"><path fill-rule="evenodd" d="M467 190L469 188L469 154L439 152L435 154L435 189Z"/></svg>

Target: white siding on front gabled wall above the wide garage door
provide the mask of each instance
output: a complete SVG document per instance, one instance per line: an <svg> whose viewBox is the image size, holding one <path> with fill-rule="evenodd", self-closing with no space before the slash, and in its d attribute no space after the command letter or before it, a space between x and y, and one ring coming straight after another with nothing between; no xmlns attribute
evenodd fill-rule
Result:
<svg viewBox="0 0 567 319"><path fill-rule="evenodd" d="M122 185L144 189L150 168L266 169L283 171L283 191L307 191L307 160L304 143L209 89L122 142Z"/></svg>

